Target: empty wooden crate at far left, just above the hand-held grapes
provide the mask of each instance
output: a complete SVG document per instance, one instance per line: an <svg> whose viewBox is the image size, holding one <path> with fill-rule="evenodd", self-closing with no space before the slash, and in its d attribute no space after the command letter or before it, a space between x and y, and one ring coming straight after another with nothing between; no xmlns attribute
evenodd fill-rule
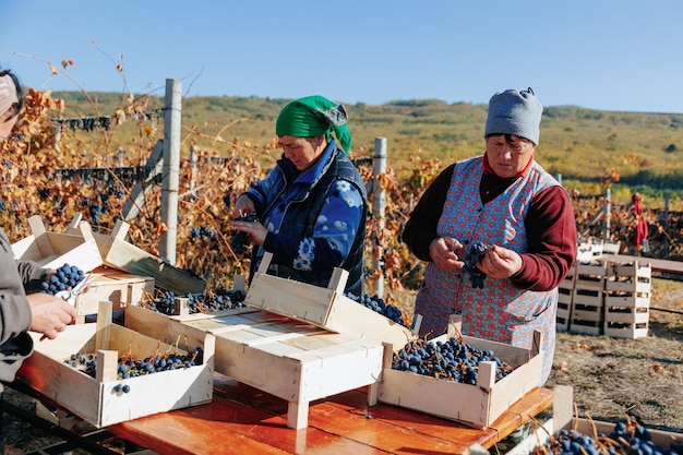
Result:
<svg viewBox="0 0 683 455"><path fill-rule="evenodd" d="M59 268L64 264L75 265L89 272L103 264L97 243L87 221L73 227L77 235L58 234L46 230L39 215L28 218L32 235L12 243L14 258L20 261L34 261L45 268ZM86 232L83 235L82 232Z"/></svg>

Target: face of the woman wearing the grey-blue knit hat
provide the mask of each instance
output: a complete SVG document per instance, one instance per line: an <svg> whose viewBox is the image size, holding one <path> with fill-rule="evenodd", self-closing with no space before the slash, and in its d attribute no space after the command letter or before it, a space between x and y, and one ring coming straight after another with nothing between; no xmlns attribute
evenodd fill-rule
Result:
<svg viewBox="0 0 683 455"><path fill-rule="evenodd" d="M536 145L516 135L494 134L487 137L489 166L499 177L515 177L522 172L531 158Z"/></svg>

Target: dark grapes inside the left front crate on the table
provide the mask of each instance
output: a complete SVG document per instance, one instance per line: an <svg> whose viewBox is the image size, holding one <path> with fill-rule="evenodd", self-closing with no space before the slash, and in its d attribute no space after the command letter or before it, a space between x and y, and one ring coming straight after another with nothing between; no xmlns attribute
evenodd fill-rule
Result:
<svg viewBox="0 0 683 455"><path fill-rule="evenodd" d="M203 362L204 350L202 347L197 347L194 352L157 354L145 359L121 357L118 361L117 379L127 380L161 371L187 369ZM81 352L73 354L69 359L64 360L64 363L73 368L81 367L81 371L91 378L96 378L97 375L97 359L92 354L87 356Z"/></svg>

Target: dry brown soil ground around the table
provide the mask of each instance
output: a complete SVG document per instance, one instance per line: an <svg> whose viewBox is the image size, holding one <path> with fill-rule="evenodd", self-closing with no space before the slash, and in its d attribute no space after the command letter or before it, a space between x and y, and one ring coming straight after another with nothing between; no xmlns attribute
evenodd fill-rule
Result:
<svg viewBox="0 0 683 455"><path fill-rule="evenodd" d="M407 295L402 301L412 301ZM403 307L399 304L399 307ZM408 316L410 308L402 308ZM683 432L683 282L654 278L648 335L636 339L558 333L546 386L570 385L578 417L616 421L625 416L649 428ZM4 399L32 409L25 396ZM3 415L3 454L21 454L58 440ZM75 451L74 454L85 453Z"/></svg>

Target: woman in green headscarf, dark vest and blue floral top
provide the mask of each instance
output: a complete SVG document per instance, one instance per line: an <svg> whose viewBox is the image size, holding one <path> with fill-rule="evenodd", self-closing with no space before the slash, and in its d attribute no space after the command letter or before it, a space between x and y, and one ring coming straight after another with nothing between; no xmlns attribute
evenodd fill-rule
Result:
<svg viewBox="0 0 683 455"><path fill-rule="evenodd" d="M268 273L327 287L335 267L349 272L345 291L363 292L366 185L348 158L351 134L344 106L323 96L287 104L275 125L283 148L277 166L242 193L232 221L254 244L250 275L263 252L273 254Z"/></svg>

